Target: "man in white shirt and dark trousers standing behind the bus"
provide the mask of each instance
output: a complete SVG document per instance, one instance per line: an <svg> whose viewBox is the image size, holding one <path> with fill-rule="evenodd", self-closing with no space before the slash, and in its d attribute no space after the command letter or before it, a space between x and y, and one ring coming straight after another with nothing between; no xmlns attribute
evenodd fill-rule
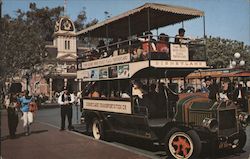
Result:
<svg viewBox="0 0 250 159"><path fill-rule="evenodd" d="M72 130L72 105L75 102L74 94L69 92L69 88L64 88L64 91L58 98L58 104L61 106L61 129L65 130L65 119L68 119L68 129Z"/></svg>

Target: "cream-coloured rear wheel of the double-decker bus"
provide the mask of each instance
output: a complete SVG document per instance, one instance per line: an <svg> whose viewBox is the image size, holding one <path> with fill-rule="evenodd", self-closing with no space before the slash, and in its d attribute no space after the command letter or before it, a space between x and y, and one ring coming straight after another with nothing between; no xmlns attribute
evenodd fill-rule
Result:
<svg viewBox="0 0 250 159"><path fill-rule="evenodd" d="M93 119L92 135L96 140L103 140L104 139L103 124L98 118Z"/></svg>

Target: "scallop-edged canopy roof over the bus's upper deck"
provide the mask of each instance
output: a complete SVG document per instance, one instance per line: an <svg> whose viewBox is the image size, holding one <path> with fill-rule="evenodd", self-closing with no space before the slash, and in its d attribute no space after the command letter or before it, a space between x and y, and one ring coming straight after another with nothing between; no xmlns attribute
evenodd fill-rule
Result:
<svg viewBox="0 0 250 159"><path fill-rule="evenodd" d="M146 3L81 30L77 35L109 38L128 37L202 16L204 16L203 11L192 8Z"/></svg>

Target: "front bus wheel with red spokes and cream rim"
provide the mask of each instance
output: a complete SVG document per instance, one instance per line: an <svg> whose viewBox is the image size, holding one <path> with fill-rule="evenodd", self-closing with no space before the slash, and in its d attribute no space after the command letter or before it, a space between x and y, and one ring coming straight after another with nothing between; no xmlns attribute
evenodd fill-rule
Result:
<svg viewBox="0 0 250 159"><path fill-rule="evenodd" d="M172 129L165 138L166 152L171 158L194 159L201 152L200 138L194 130Z"/></svg>

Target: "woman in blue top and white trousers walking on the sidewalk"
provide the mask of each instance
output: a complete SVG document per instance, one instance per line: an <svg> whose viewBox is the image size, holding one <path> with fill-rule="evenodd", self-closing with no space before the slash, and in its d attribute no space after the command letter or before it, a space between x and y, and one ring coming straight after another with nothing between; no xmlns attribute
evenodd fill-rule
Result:
<svg viewBox="0 0 250 159"><path fill-rule="evenodd" d="M18 98L21 103L20 110L22 111L23 127L25 129L25 135L30 134L30 125L33 123L33 113L30 111L29 105L32 102L32 97L29 96L29 91L22 92L22 97Z"/></svg>

